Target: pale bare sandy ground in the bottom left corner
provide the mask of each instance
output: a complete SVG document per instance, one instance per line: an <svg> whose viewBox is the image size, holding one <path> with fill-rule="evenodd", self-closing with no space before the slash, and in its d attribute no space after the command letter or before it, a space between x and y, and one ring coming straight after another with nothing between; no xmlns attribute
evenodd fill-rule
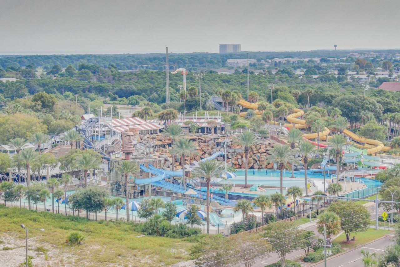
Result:
<svg viewBox="0 0 400 267"><path fill-rule="evenodd" d="M16 237L16 235L0 235L0 266L17 267L25 261L25 239ZM12 248L3 250L4 247ZM38 247L47 249L46 255L35 251ZM28 255L32 257L34 266L77 266L74 264L74 255L62 252L59 247L40 243L34 237L28 239Z"/></svg>

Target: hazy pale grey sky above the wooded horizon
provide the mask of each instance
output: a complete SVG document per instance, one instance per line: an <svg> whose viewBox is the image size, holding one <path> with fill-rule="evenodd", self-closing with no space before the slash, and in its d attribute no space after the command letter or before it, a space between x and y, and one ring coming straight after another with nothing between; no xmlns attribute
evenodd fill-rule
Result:
<svg viewBox="0 0 400 267"><path fill-rule="evenodd" d="M398 0L0 0L0 54L400 48Z"/></svg>

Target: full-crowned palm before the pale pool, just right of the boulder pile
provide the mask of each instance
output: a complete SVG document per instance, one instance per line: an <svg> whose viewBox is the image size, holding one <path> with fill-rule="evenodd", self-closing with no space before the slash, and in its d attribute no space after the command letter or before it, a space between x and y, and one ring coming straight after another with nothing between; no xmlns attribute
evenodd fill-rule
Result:
<svg viewBox="0 0 400 267"><path fill-rule="evenodd" d="M270 150L267 161L270 163L276 162L277 168L280 170L280 194L283 195L283 169L287 163L295 164L298 162L298 160L294 158L294 151L290 150L288 145L276 144L275 147Z"/></svg>

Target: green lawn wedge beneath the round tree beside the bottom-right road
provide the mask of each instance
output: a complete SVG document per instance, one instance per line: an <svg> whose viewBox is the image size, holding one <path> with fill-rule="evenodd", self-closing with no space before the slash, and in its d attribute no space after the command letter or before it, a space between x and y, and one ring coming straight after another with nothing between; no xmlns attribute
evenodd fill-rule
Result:
<svg viewBox="0 0 400 267"><path fill-rule="evenodd" d="M346 235L343 233L342 235L336 237L336 239L334 239L333 242L339 243L342 246L342 248L351 249L354 247L358 247L362 244L374 241L375 239L383 237L388 233L389 233L388 230L383 230L383 229L375 230L374 228L368 228L367 231L365 232L358 232L354 234L352 233L350 235L351 237L353 237L354 235L356 237L356 241L346 242Z"/></svg>

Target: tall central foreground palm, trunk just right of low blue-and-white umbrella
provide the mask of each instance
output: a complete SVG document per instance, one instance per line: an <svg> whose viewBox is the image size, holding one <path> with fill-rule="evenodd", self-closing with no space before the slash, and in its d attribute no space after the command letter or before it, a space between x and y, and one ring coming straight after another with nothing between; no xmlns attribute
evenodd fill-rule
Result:
<svg viewBox="0 0 400 267"><path fill-rule="evenodd" d="M195 168L193 171L193 177L204 178L207 184L207 233L210 233L210 183L213 179L220 178L222 170L222 166L218 164L216 160L208 160L205 162L199 162L198 168Z"/></svg>

